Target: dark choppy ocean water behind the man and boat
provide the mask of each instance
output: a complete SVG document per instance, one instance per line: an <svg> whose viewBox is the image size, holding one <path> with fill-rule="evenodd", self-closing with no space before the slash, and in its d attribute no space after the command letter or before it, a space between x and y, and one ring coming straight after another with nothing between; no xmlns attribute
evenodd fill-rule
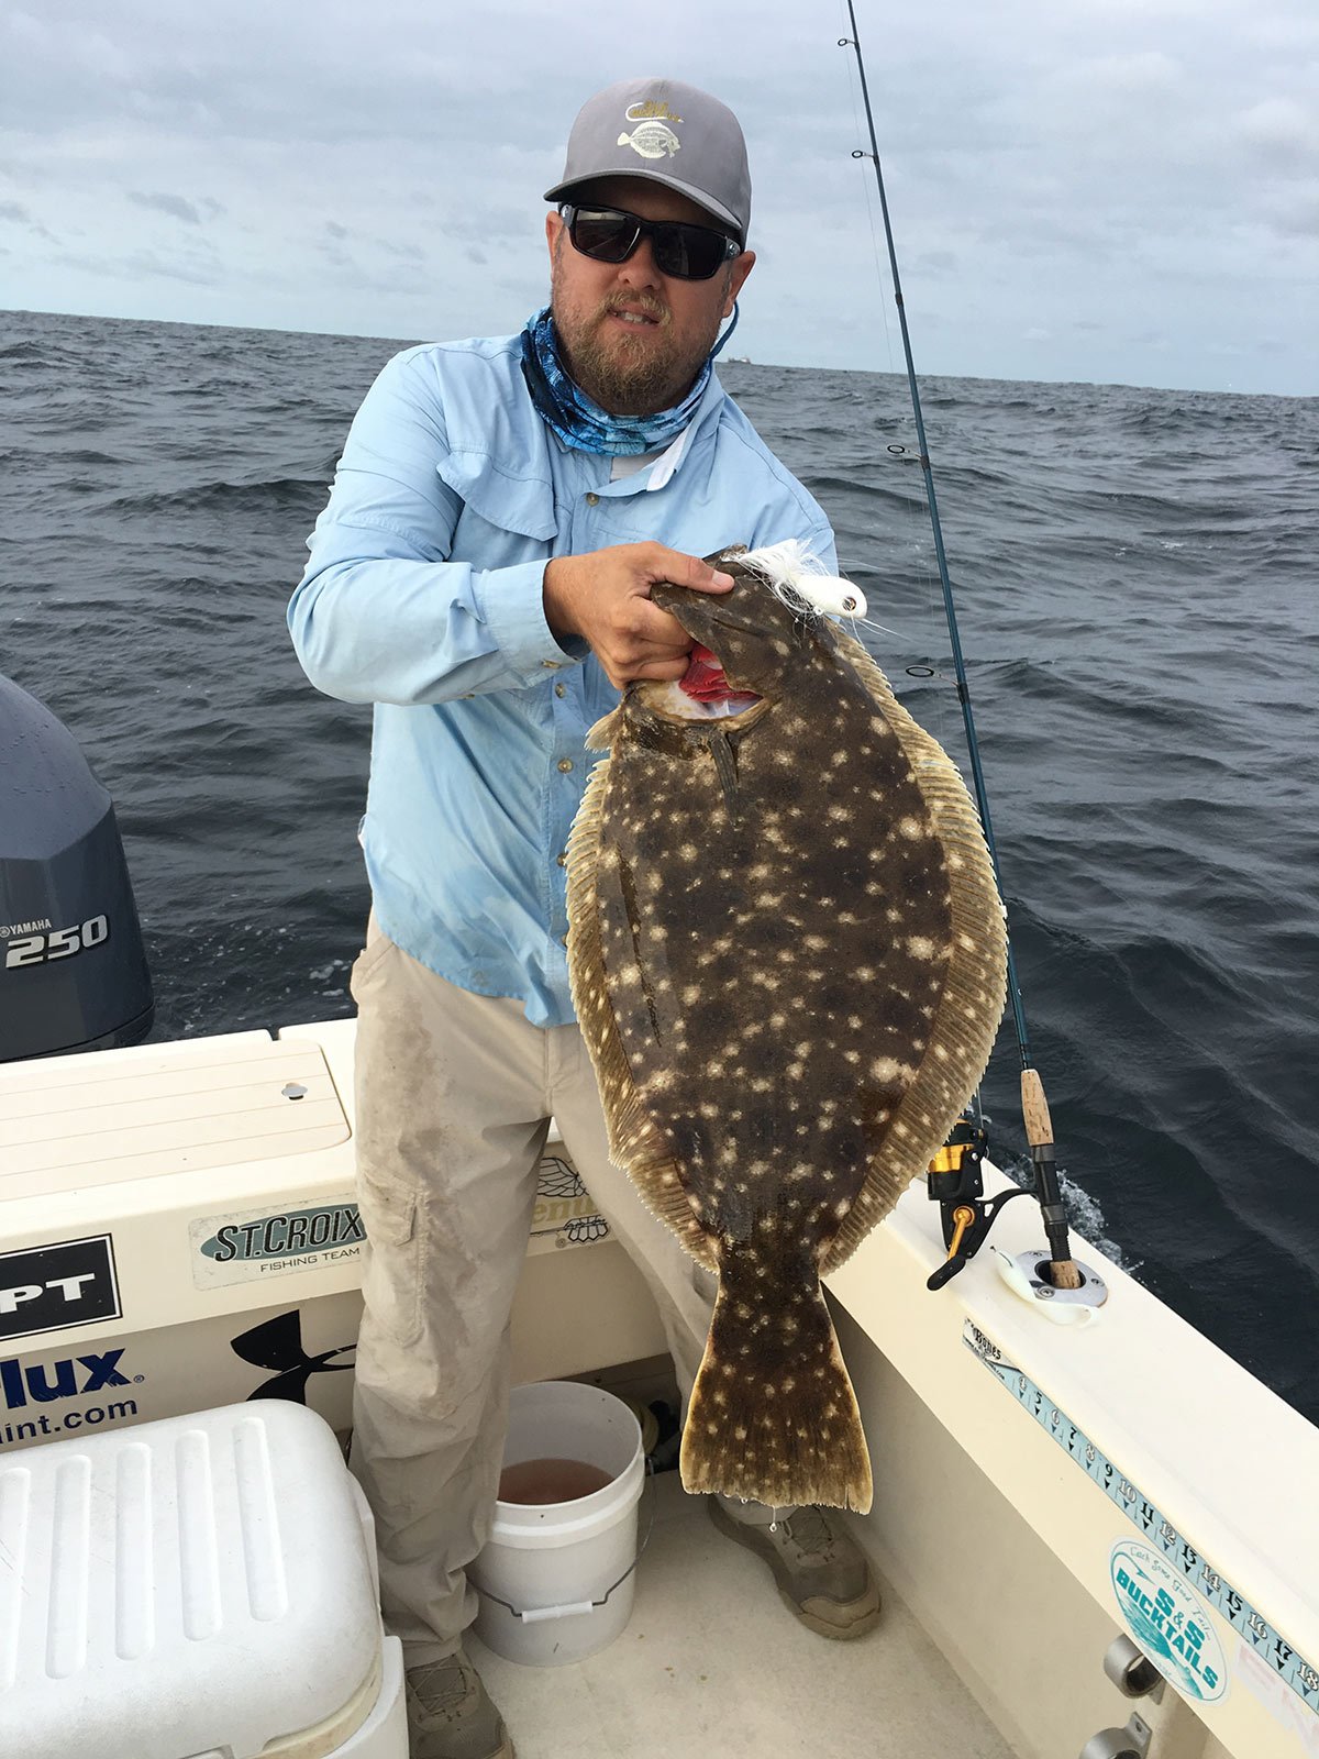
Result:
<svg viewBox="0 0 1319 1759"><path fill-rule="evenodd" d="M283 612L397 347L0 313L0 670L116 800L157 1038L352 1011L369 711L306 684ZM906 380L723 378L962 758ZM1319 401L930 378L923 406L1078 1230L1319 1421ZM1017 1069L1006 1025L1006 1163Z"/></svg>

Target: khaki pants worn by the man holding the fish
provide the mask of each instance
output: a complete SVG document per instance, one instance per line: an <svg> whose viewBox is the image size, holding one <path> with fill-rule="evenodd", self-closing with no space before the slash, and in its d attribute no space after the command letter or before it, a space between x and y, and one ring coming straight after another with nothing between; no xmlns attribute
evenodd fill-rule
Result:
<svg viewBox="0 0 1319 1759"><path fill-rule="evenodd" d="M477 1617L464 1567L494 1513L508 1409L508 1314L550 1113L614 1237L654 1293L682 1400L714 1277L608 1159L575 1025L536 1027L375 927L357 1001L357 1186L368 1247L352 1467L376 1520L380 1592L406 1664L457 1648Z"/></svg>

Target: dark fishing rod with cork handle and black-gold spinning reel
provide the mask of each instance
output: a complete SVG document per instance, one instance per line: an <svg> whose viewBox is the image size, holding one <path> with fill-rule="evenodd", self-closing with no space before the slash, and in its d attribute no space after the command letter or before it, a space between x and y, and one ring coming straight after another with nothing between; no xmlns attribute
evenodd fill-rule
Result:
<svg viewBox="0 0 1319 1759"><path fill-rule="evenodd" d="M934 531L934 556L939 565L939 584L943 586L943 609L944 609L944 617L948 619L948 635L953 644L953 672L957 674L957 700L962 705L962 723L966 726L967 749L971 753L971 777L976 793L976 806L980 809L980 823L985 830L985 843L988 846L990 862L994 864L994 878L997 880L999 894L1002 895L1004 887L1002 887L1002 872L999 869L999 851L994 843L994 827L990 823L985 772L980 765L980 742L976 739L976 719L974 714L971 712L971 686L967 682L966 661L962 658L962 639L957 630L957 605L953 603L953 584L948 579L948 558L943 547L943 528L939 526L939 501L934 494L934 471L930 468L930 449L925 443L925 419L920 408L916 364L911 354L907 311L906 304L902 303L902 276L897 267L897 246L893 243L893 227L888 218L885 174L879 164L879 141L876 139L874 132L871 88L865 81L865 60L862 56L860 32L856 30L856 9L853 5L853 0L848 0L848 19L851 21L851 37L839 37L839 47L856 51L856 72L860 74L862 81L862 102L865 104L865 121L871 130L871 151L867 153L864 148L855 148L851 157L871 160L871 164L874 165L874 181L879 186L879 211L885 220L888 267L893 276L893 301L897 304L897 318L902 329L902 354L906 355L907 362L907 387L911 390L911 413L916 420L916 442L920 445L920 470L922 470L922 478L925 482L925 503L930 510L930 528ZM1082 1286L1082 1274L1076 1268L1076 1263L1073 1261L1071 1245L1068 1244L1068 1217L1062 1208L1062 1191L1059 1186L1057 1154L1053 1149L1053 1124L1048 1115L1045 1085L1039 1080L1039 1071L1034 1068L1034 1061L1031 1055L1031 1040L1025 1029L1025 1010L1022 1006L1022 989L1020 983L1017 982L1017 960L1013 957L1011 939L1008 941L1008 997L1011 1001L1013 1022L1017 1027L1017 1047L1022 1057L1022 1117L1025 1120L1025 1136L1031 1145L1031 1161L1036 1170L1036 1198L1039 1200L1039 1210L1045 1221L1045 1235L1048 1238L1048 1251L1050 1251L1048 1279L1053 1284L1053 1288L1078 1289ZM973 1140L962 1143L957 1140L958 1133L957 1131L953 1133L950 1150L955 1152L950 1156L950 1164L944 1166L936 1161L936 1168L930 1173L932 1196L937 1194L939 1191L936 1180L944 1180L943 1184L944 1191L957 1189L957 1186L948 1184L948 1180L962 1177L960 1163L962 1159L967 1159L967 1156L957 1150L967 1147L974 1150L969 1156L969 1159L973 1161L969 1173L974 1179L974 1184L978 1186L980 1154L974 1143L976 1133L966 1131L964 1135L967 1135ZM980 1131L980 1142L983 1143L983 1131ZM944 1198L943 1201L946 1205L950 1198ZM988 1231L988 1224L994 1221L995 1214L997 1214L995 1201L992 1201L987 1207L983 1205L981 1208L976 1208L974 1201L971 1205L967 1203L962 1205L962 1215L958 1217L957 1231L948 1242L950 1244L948 1266L944 1266L943 1274L936 1272L936 1275L930 1279L934 1288L937 1288L941 1282L946 1282L955 1270L962 1268L962 1263L966 1263L966 1256L969 1256L969 1251L980 1245L980 1238L983 1238L983 1235ZM976 1219L973 1221L971 1217ZM958 1245L962 1245L962 1242L966 1242L967 1252L958 1258Z"/></svg>

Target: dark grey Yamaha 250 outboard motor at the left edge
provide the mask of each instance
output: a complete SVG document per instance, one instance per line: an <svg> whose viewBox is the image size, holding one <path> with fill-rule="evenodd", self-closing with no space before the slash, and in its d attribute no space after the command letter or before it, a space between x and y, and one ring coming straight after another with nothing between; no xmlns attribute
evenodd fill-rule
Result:
<svg viewBox="0 0 1319 1759"><path fill-rule="evenodd" d="M155 1001L111 797L0 677L0 1062L135 1045Z"/></svg>

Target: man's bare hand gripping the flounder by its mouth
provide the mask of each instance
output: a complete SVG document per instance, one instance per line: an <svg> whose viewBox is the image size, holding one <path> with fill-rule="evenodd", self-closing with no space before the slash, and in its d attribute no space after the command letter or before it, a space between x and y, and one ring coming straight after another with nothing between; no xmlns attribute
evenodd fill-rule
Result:
<svg viewBox="0 0 1319 1759"><path fill-rule="evenodd" d="M616 544L545 565L545 621L556 635L580 635L623 690L635 677L682 677L693 642L677 617L651 603L660 580L726 593L730 573L663 544Z"/></svg>

